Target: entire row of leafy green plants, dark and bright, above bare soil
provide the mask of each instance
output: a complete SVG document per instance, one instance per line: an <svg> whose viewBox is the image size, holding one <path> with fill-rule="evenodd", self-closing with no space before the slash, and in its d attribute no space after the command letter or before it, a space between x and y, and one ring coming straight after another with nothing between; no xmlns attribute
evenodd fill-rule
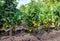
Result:
<svg viewBox="0 0 60 41"><path fill-rule="evenodd" d="M0 0L0 28L11 28L26 24L26 30L44 26L44 28L59 28L60 2L57 0L31 0L26 5L16 8L16 0Z"/></svg>

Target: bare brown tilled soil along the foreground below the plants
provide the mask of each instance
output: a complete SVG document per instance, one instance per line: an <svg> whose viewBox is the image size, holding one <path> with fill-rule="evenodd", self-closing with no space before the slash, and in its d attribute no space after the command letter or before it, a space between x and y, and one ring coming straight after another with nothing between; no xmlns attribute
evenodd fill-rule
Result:
<svg viewBox="0 0 60 41"><path fill-rule="evenodd" d="M60 41L60 31L45 32L43 35L23 32L14 36L3 36L0 41Z"/></svg>

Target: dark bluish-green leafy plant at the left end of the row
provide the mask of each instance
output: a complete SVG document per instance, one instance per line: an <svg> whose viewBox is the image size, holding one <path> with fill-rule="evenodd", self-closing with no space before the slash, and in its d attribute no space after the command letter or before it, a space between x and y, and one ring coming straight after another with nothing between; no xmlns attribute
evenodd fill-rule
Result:
<svg viewBox="0 0 60 41"><path fill-rule="evenodd" d="M10 28L21 23L21 13L16 0L4 0L0 12L0 27Z"/></svg>

